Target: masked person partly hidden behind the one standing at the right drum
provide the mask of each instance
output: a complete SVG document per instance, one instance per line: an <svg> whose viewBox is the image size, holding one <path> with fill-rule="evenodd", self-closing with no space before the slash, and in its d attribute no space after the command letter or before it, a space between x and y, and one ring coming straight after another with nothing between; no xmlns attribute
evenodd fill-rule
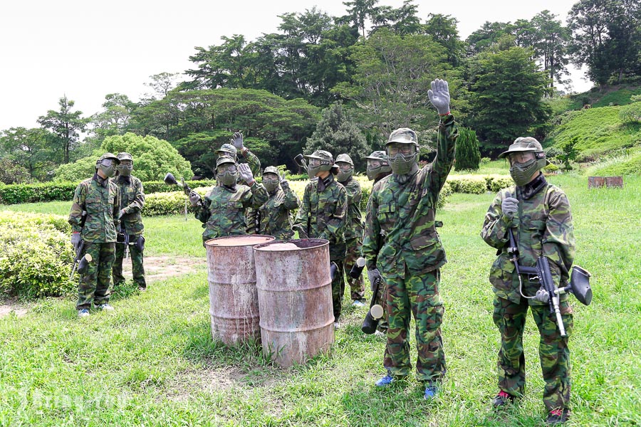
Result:
<svg viewBox="0 0 641 427"><path fill-rule="evenodd" d="M350 278L350 270L360 257L360 248L363 246L363 214L360 213L360 199L363 197L363 191L360 184L353 178L354 162L348 154L338 154L336 157L338 165L338 174L336 179L343 184L348 193L348 216L345 220L345 247L347 255L343 263L341 275L345 275L350 284L350 297L352 305L363 307L365 305L365 285L363 277L358 279ZM345 285L343 285L345 287Z"/></svg>

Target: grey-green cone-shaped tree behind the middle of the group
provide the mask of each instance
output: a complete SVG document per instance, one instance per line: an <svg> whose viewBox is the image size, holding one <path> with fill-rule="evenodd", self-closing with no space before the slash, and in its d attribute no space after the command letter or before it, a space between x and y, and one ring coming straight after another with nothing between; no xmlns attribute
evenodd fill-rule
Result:
<svg viewBox="0 0 641 427"><path fill-rule="evenodd" d="M370 154L370 147L358 125L353 122L342 102L335 102L323 110L323 117L318 121L316 130L307 139L306 153L324 149L332 153L334 159L338 154L349 154L355 169L365 169L365 156Z"/></svg>

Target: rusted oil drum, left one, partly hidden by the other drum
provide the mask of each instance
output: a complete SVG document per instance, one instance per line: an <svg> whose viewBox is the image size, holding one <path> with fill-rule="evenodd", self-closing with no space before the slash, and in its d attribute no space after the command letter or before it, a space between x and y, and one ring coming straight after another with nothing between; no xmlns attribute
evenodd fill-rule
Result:
<svg viewBox="0 0 641 427"><path fill-rule="evenodd" d="M259 338L254 246L272 236L228 236L205 242L212 337L227 345Z"/></svg>

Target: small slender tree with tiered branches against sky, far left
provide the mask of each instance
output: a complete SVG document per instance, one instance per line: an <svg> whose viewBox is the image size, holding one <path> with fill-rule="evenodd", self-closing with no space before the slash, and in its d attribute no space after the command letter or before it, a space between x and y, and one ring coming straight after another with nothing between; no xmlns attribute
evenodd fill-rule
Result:
<svg viewBox="0 0 641 427"><path fill-rule="evenodd" d="M69 154L78 146L80 132L84 132L88 119L81 117L82 111L72 112L75 102L65 96L58 100L60 110L48 110L47 115L40 116L38 123L58 136L63 151L63 163L69 162Z"/></svg>

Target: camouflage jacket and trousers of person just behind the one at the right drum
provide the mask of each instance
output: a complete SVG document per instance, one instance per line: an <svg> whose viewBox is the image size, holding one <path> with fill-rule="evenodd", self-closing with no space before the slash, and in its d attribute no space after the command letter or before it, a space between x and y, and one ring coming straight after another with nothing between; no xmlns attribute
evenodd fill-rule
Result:
<svg viewBox="0 0 641 427"><path fill-rule="evenodd" d="M360 257L360 248L363 246L363 214L360 212L360 200L363 198L363 191L360 184L353 178L341 182L348 194L348 216L345 221L345 280L350 285L350 297L353 301L365 302L365 285L363 275L353 280L350 278L350 270Z"/></svg>

